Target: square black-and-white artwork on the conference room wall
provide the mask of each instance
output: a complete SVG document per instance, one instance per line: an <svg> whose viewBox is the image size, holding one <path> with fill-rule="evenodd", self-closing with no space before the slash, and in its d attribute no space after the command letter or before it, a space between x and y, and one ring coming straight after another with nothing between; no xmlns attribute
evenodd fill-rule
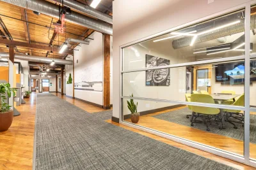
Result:
<svg viewBox="0 0 256 170"><path fill-rule="evenodd" d="M146 54L146 67L168 66L170 60ZM146 86L169 86L170 68L146 71Z"/></svg>

